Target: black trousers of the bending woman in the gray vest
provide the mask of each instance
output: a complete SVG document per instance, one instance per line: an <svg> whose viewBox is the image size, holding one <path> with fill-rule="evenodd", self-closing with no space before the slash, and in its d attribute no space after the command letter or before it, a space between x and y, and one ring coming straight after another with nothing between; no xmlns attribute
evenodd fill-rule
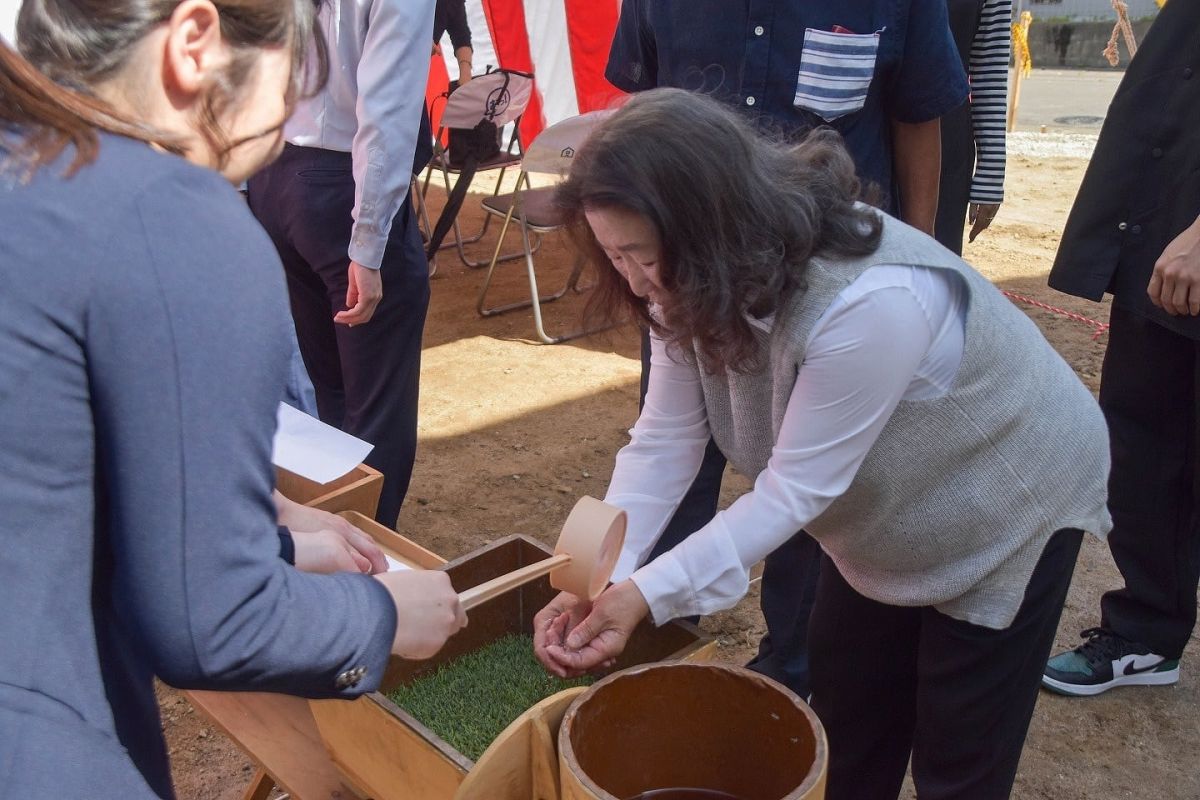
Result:
<svg viewBox="0 0 1200 800"><path fill-rule="evenodd" d="M910 756L922 800L1009 796L1081 540L1050 539L1003 631L868 600L826 558L809 642L828 800L894 800Z"/></svg>

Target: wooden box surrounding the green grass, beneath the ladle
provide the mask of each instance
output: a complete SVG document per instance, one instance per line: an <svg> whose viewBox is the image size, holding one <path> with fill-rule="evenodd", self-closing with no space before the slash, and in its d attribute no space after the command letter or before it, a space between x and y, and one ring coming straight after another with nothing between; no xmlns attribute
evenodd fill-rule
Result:
<svg viewBox="0 0 1200 800"><path fill-rule="evenodd" d="M462 591L540 561L550 554L550 548L532 539L509 536L451 561L443 569L450 573L455 589ZM550 587L550 579L541 578L473 609L470 624L433 658L392 658L383 690L390 691L409 684L502 636L530 633L534 614L556 594ZM715 642L686 622L671 622L661 627L643 622L630 637L614 669L673 658L708 661L715 649ZM347 784L353 786L364 798L451 800L474 766L470 759L380 692L350 703L313 700L311 706L334 763Z"/></svg>

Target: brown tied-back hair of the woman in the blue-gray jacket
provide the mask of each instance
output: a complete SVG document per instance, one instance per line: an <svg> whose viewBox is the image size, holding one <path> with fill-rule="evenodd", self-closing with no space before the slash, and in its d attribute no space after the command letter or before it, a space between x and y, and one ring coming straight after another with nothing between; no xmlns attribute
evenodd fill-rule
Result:
<svg viewBox="0 0 1200 800"><path fill-rule="evenodd" d="M240 100L258 54L271 47L292 53L288 107L319 90L328 76L325 40L316 24L320 0L212 0L233 59L208 88L199 133L222 167L230 140L220 120ZM116 76L134 47L170 19L179 0L25 0L17 20L20 54L0 42L0 132L24 139L19 156L36 169L70 145L68 174L95 160L98 132L107 131L181 152L176 138L131 119L92 94Z"/></svg>

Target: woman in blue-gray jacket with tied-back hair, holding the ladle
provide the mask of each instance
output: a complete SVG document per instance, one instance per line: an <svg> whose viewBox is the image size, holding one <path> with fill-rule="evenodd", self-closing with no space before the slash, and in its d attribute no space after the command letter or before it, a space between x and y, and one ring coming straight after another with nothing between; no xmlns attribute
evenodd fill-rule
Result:
<svg viewBox="0 0 1200 800"><path fill-rule="evenodd" d="M311 0L26 0L18 41L29 60L0 44L0 794L170 798L155 678L348 698L466 618L436 571L280 558L290 321L233 184L281 146Z"/></svg>

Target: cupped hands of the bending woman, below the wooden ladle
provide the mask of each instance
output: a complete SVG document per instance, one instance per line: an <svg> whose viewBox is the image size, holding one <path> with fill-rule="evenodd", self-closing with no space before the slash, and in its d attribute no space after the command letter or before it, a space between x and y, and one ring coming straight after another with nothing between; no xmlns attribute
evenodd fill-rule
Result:
<svg viewBox="0 0 1200 800"><path fill-rule="evenodd" d="M534 655L559 678L608 668L650 608L632 581L622 581L588 603L559 594L534 616Z"/></svg>

